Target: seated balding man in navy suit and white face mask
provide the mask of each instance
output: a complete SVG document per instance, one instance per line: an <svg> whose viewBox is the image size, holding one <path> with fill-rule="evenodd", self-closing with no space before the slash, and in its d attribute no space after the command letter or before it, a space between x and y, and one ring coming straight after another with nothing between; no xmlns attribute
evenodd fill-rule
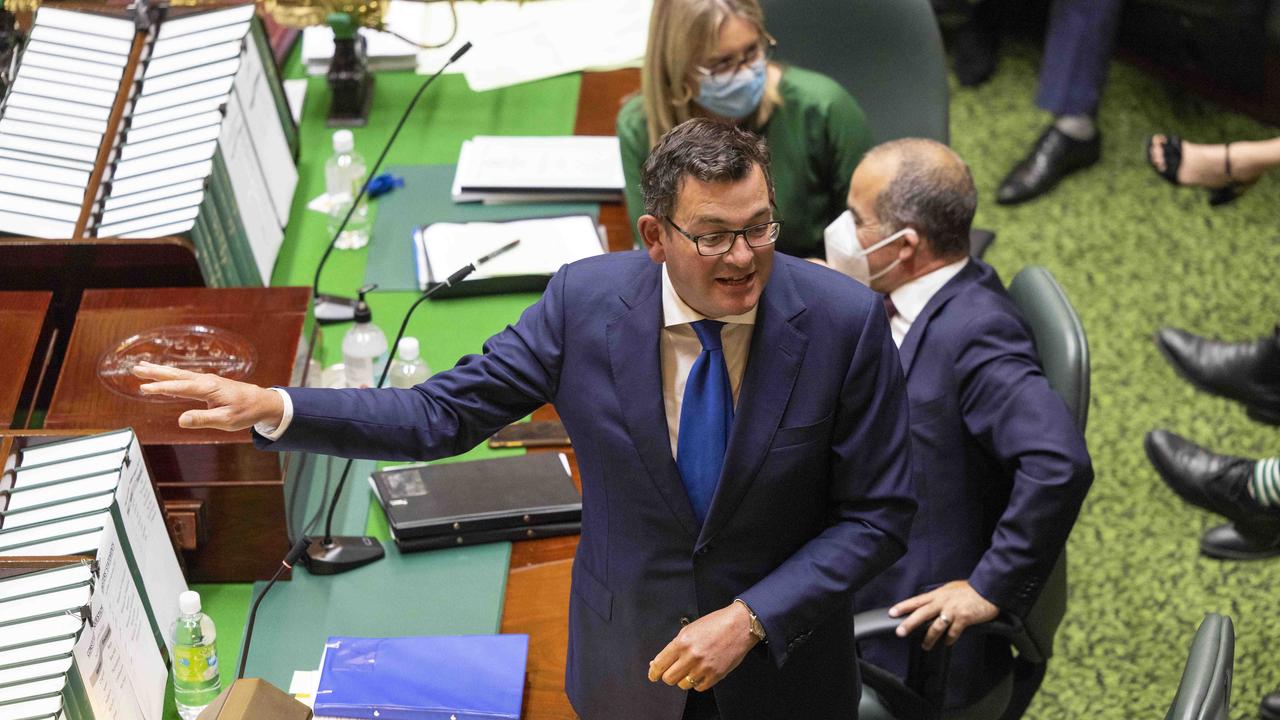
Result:
<svg viewBox="0 0 1280 720"><path fill-rule="evenodd" d="M955 644L948 705L979 700L1011 665L1007 642L965 637L1000 611L1024 616L1093 480L1084 438L1041 370L1032 333L996 272L969 258L969 168L945 145L901 140L854 172L827 258L886 296L906 374L919 511L908 552L858 591L892 606L899 635ZM909 648L863 656L905 676Z"/></svg>

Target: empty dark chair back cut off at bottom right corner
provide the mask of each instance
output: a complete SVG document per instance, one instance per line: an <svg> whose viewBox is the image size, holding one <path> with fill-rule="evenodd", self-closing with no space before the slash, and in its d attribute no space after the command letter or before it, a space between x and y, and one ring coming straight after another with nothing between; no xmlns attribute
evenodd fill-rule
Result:
<svg viewBox="0 0 1280 720"><path fill-rule="evenodd" d="M1228 720L1234 659L1235 628L1231 619L1210 612L1196 630L1183 680L1165 720Z"/></svg>

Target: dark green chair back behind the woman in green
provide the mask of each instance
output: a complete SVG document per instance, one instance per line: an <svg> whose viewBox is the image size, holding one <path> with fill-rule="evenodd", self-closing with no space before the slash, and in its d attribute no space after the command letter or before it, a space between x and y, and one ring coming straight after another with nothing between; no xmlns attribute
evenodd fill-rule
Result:
<svg viewBox="0 0 1280 720"><path fill-rule="evenodd" d="M778 59L832 77L852 95L872 140L951 140L947 58L929 0L760 0ZM969 251L996 241L974 228Z"/></svg>

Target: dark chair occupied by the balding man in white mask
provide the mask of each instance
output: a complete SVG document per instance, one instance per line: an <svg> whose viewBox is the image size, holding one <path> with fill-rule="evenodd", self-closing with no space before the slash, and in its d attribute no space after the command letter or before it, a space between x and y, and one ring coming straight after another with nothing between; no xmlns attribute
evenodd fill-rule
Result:
<svg viewBox="0 0 1280 720"><path fill-rule="evenodd" d="M1044 377L1084 432L1089 414L1089 342L1079 315L1053 275L1037 265L1023 268L1009 284L1009 295L1032 328ZM978 702L942 712L950 652L943 646L924 652L925 628L901 642L911 643L906 682L863 662L861 720L1014 720L1021 717L1044 679L1053 655L1053 635L1066 614L1066 551L1059 557L1036 605L1025 618L1000 618L965 630L1009 639L1018 656L1012 671ZM854 619L858 639L890 635L901 620L888 609L868 610ZM868 692L868 689L870 692Z"/></svg>

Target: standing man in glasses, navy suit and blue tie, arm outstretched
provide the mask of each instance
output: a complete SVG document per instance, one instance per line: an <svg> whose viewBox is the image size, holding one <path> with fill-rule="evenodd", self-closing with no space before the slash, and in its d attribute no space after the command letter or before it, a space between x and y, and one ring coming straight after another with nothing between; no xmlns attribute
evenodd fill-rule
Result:
<svg viewBox="0 0 1280 720"><path fill-rule="evenodd" d="M270 450L387 460L463 452L552 402L582 477L566 676L577 712L856 717L852 593L902 555L915 510L881 301L774 255L754 135L684 123L643 184L648 252L566 265L483 355L415 388L136 374L156 380L145 392L209 404L184 427L257 424Z"/></svg>

